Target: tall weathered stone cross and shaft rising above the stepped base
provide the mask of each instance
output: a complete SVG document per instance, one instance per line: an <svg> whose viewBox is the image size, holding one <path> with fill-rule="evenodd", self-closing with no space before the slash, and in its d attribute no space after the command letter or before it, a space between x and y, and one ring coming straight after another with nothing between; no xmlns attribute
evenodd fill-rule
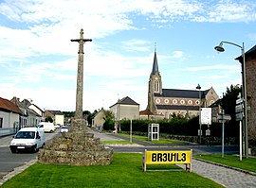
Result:
<svg viewBox="0 0 256 188"><path fill-rule="evenodd" d="M91 39L83 39L83 29L80 31L80 39L71 39L71 42L79 43L77 95L76 95L76 119L82 119L82 85L83 85L83 43L92 42Z"/></svg>

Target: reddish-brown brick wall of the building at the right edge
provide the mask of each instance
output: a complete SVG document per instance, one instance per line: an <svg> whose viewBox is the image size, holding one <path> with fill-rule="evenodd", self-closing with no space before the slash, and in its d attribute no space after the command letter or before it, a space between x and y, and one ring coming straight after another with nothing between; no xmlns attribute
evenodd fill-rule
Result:
<svg viewBox="0 0 256 188"><path fill-rule="evenodd" d="M248 140L256 140L256 59L247 60Z"/></svg>

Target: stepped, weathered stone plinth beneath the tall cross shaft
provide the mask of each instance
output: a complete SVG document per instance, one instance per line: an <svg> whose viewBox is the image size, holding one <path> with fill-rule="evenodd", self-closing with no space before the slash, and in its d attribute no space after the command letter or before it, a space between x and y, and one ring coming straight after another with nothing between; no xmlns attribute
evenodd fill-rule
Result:
<svg viewBox="0 0 256 188"><path fill-rule="evenodd" d="M68 132L46 144L38 155L38 162L78 166L108 165L112 162L113 150L101 145L94 138L84 120L74 120Z"/></svg>

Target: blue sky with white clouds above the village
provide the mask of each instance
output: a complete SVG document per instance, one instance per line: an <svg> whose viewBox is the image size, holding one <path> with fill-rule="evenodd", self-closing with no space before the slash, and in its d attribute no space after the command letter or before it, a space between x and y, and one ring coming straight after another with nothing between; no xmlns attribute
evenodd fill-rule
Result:
<svg viewBox="0 0 256 188"><path fill-rule="evenodd" d="M256 44L255 0L0 0L0 97L75 111L83 28L83 111L129 96L147 107L156 50L163 88L219 96L241 84L241 48Z"/></svg>

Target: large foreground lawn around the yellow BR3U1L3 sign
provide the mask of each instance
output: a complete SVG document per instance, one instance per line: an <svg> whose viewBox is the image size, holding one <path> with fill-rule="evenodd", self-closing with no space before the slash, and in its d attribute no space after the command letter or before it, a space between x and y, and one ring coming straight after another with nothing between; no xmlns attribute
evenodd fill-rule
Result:
<svg viewBox="0 0 256 188"><path fill-rule="evenodd" d="M115 153L107 166L35 163L2 188L31 187L222 187L186 171L142 172L142 154Z"/></svg>

